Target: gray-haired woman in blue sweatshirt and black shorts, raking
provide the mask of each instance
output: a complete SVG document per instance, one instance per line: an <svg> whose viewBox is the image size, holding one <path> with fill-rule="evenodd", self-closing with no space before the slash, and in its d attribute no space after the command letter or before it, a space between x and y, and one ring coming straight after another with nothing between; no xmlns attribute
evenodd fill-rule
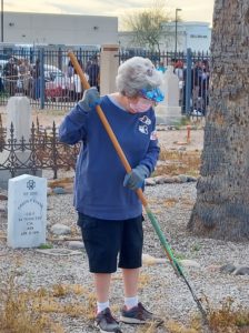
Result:
<svg viewBox="0 0 249 333"><path fill-rule="evenodd" d="M83 143L76 168L74 206L94 278L96 325L100 332L121 332L109 307L117 261L124 291L121 321L142 324L155 320L138 301L143 216L136 190L143 186L159 155L153 107L163 100L160 84L161 73L149 59L131 58L119 67L118 92L100 99L96 88L84 91L60 125L62 142ZM132 168L129 174L94 112L96 104L100 104L124 151Z"/></svg>

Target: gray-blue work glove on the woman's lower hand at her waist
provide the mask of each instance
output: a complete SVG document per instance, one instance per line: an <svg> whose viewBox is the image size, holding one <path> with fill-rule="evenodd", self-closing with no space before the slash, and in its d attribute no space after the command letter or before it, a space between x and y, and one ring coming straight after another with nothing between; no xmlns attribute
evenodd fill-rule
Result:
<svg viewBox="0 0 249 333"><path fill-rule="evenodd" d="M145 179L150 174L146 165L138 165L127 173L123 180L123 186L136 191L145 183Z"/></svg>

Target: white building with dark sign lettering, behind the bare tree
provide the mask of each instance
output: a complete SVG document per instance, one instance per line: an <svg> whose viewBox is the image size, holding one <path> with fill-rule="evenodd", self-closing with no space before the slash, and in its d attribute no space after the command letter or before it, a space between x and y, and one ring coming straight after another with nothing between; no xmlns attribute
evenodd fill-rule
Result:
<svg viewBox="0 0 249 333"><path fill-rule="evenodd" d="M193 52L208 52L211 42L211 28L207 22L178 22L177 23L177 50ZM136 48L132 42L132 32L119 32L119 43L123 48ZM146 46L145 46L146 48ZM160 51L175 51L176 49L176 22L163 24L163 33L160 40Z"/></svg>

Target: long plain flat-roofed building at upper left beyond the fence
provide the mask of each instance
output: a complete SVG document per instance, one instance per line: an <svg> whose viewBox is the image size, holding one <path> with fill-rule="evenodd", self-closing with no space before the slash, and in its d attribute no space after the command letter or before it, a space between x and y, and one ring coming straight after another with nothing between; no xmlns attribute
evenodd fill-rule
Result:
<svg viewBox="0 0 249 333"><path fill-rule="evenodd" d="M118 18L4 12L3 42L21 44L116 44Z"/></svg>

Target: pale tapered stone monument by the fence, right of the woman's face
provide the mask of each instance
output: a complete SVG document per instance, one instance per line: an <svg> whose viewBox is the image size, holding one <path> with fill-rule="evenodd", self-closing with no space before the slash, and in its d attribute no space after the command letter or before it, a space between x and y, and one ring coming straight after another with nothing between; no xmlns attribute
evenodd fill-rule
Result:
<svg viewBox="0 0 249 333"><path fill-rule="evenodd" d="M163 82L160 88L165 93L165 100L156 107L157 123L178 123L182 115L181 108L179 105L179 79L173 73L173 67L168 67L163 74Z"/></svg>

